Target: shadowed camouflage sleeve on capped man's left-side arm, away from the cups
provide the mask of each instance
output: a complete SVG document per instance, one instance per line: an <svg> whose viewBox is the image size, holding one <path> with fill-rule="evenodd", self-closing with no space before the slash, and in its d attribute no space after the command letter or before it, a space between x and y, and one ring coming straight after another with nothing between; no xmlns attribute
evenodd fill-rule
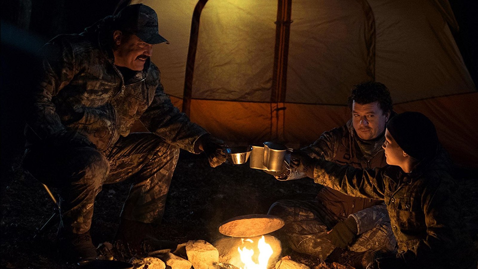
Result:
<svg viewBox="0 0 478 269"><path fill-rule="evenodd" d="M62 38L54 38L40 49L42 62L37 86L27 100L26 123L39 139L65 130L55 112L52 97L58 94L77 73L72 46Z"/></svg>

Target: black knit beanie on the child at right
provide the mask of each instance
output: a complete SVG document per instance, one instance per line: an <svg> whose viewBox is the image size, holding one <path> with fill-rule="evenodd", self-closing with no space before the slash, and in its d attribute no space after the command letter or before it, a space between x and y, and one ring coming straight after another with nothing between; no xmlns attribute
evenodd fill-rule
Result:
<svg viewBox="0 0 478 269"><path fill-rule="evenodd" d="M417 160L433 156L438 146L435 125L420 112L403 112L391 118L387 130L402 150Z"/></svg>

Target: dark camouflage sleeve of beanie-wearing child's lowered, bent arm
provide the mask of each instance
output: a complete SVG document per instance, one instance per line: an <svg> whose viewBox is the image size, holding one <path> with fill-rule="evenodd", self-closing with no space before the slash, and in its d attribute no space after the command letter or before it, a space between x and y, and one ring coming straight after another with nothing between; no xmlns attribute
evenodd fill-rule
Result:
<svg viewBox="0 0 478 269"><path fill-rule="evenodd" d="M461 220L457 210L456 186L452 180L437 178L436 181L441 181L438 188L427 186L422 192L426 239L417 240L402 255L411 268L423 268L430 264L439 268L447 261L460 259L466 252L461 247L467 246L467 238L459 232Z"/></svg>

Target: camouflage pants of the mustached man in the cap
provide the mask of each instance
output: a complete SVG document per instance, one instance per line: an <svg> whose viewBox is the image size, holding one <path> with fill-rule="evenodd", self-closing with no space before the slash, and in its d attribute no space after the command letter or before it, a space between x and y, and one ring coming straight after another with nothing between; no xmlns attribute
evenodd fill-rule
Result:
<svg viewBox="0 0 478 269"><path fill-rule="evenodd" d="M179 148L151 133L120 137L105 152L88 146L28 149L25 168L47 186L58 188L62 225L67 232L89 231L93 206L103 184L132 180L121 217L160 223Z"/></svg>

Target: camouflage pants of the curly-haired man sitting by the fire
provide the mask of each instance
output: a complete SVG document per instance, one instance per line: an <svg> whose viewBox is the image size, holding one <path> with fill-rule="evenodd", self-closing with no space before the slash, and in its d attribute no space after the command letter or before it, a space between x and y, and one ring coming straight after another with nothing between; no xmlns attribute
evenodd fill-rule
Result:
<svg viewBox="0 0 478 269"><path fill-rule="evenodd" d="M282 217L285 222L279 234L281 241L294 251L325 260L335 249L327 238L335 224L343 221L317 201L281 200L272 204L268 214ZM383 249L394 251L396 240L390 223L378 225L360 235L348 247L354 252Z"/></svg>

